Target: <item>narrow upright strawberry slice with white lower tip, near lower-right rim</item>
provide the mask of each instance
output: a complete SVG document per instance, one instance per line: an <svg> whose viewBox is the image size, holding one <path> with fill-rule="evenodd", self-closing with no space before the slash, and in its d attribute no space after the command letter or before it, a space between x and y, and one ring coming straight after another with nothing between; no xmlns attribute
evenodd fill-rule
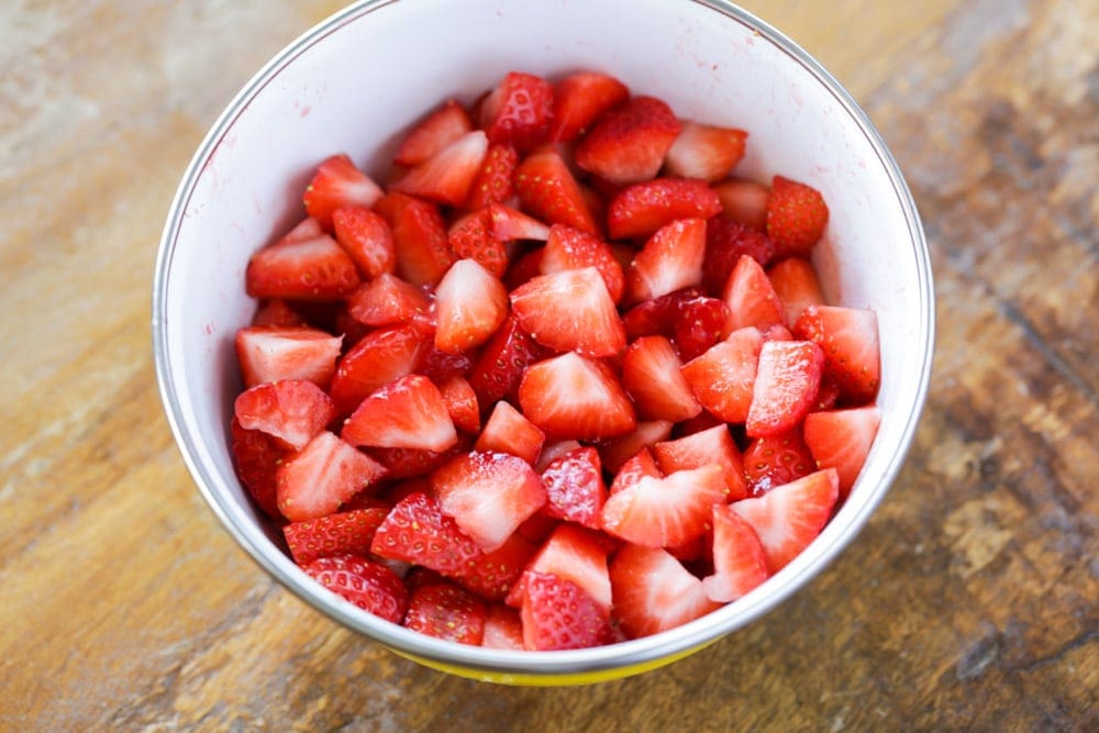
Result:
<svg viewBox="0 0 1099 733"><path fill-rule="evenodd" d="M702 591L719 603L747 596L767 579L767 555L759 536L731 506L713 507L713 575Z"/></svg>

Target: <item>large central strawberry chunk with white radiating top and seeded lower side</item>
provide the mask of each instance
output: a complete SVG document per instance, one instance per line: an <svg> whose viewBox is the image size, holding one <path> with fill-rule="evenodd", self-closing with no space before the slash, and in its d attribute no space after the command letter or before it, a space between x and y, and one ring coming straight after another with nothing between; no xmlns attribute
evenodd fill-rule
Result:
<svg viewBox="0 0 1099 733"><path fill-rule="evenodd" d="M519 404L555 441L599 441L629 433L637 424L618 380L601 364L573 352L528 367Z"/></svg>

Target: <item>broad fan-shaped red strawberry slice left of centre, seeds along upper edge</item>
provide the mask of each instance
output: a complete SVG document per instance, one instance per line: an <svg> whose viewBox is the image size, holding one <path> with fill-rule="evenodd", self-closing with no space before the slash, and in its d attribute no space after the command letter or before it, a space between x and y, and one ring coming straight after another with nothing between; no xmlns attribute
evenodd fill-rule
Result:
<svg viewBox="0 0 1099 733"><path fill-rule="evenodd" d="M352 445L442 452L458 435L439 388L428 377L398 377L371 392L344 422Z"/></svg>

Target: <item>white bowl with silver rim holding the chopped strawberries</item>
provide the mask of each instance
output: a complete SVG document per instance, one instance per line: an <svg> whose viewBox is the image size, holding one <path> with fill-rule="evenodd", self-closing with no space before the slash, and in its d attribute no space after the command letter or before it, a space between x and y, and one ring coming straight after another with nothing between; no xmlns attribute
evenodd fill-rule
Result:
<svg viewBox="0 0 1099 733"><path fill-rule="evenodd" d="M164 409L199 490L256 563L336 622L465 677L570 685L682 658L777 607L855 537L900 470L930 378L934 329L926 244L911 195L867 115L804 51L721 0L365 0L275 56L237 93L184 174L153 284ZM466 31L454 33L453 29ZM746 597L691 623L610 646L511 652L390 624L321 588L233 471L227 425L241 389L233 337L255 302L249 256L300 219L321 159L346 152L385 170L396 141L444 96L473 101L509 70L598 69L681 118L750 131L737 174L810 182L831 219L815 264L830 302L877 312L881 424L850 497L820 536Z"/></svg>

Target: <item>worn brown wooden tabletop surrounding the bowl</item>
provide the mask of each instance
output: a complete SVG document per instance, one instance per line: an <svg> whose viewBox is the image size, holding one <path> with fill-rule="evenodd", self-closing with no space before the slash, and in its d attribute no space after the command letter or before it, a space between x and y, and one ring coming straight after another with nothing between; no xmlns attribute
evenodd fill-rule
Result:
<svg viewBox="0 0 1099 733"><path fill-rule="evenodd" d="M149 284L179 177L338 4L0 8L0 729L1099 729L1099 3L746 3L910 181L937 287L925 418L791 601L663 671L555 690L430 671L306 607L163 418Z"/></svg>

